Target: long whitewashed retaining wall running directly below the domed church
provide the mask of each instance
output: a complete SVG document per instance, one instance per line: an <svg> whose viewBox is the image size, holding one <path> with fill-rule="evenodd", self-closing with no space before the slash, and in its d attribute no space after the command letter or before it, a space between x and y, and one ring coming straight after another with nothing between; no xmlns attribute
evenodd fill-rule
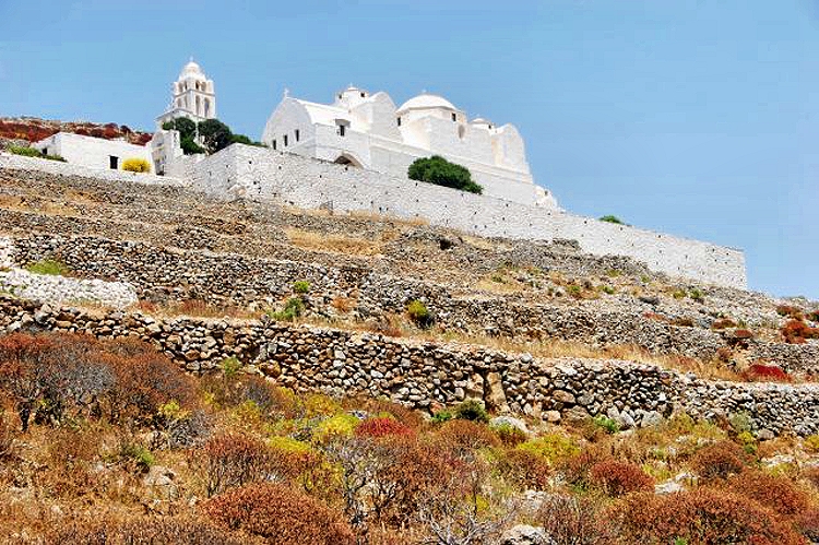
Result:
<svg viewBox="0 0 819 545"><path fill-rule="evenodd" d="M741 250L299 155L234 144L199 163L194 171L193 187L213 194L422 217L483 236L575 239L590 253L628 256L673 276L740 288L747 285Z"/></svg>

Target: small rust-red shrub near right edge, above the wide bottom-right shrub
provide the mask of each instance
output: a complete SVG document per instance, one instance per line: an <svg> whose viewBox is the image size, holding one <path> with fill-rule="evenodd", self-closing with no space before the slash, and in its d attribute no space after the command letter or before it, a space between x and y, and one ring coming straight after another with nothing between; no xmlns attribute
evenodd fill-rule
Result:
<svg viewBox="0 0 819 545"><path fill-rule="evenodd" d="M794 517L810 505L808 495L793 481L761 471L746 471L729 478L727 488L785 517Z"/></svg>

